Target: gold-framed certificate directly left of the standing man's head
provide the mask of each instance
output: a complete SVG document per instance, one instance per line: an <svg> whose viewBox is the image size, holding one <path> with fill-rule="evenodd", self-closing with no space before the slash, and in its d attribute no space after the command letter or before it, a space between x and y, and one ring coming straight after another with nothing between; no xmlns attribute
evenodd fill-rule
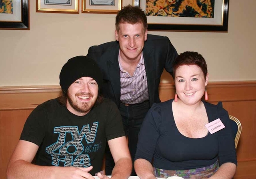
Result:
<svg viewBox="0 0 256 179"><path fill-rule="evenodd" d="M116 14L122 9L122 0L82 0L82 13Z"/></svg>

